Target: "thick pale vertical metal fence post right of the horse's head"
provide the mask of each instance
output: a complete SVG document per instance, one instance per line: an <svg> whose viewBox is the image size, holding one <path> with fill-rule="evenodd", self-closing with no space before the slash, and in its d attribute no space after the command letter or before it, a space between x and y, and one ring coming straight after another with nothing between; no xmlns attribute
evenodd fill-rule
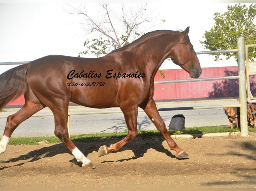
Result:
<svg viewBox="0 0 256 191"><path fill-rule="evenodd" d="M239 100L240 100L240 128L241 136L248 135L247 127L247 104L246 104L246 78L245 78L245 44L244 37L237 38L237 63L238 75L240 76L239 84Z"/></svg>

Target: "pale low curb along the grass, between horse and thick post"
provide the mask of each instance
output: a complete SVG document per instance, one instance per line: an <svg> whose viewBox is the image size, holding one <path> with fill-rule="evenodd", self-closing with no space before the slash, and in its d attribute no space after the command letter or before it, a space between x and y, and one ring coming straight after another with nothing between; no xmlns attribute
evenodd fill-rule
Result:
<svg viewBox="0 0 256 191"><path fill-rule="evenodd" d="M235 132L224 132L224 133L206 133L206 134L183 134L183 135L171 135L173 139L194 139L194 138L204 138L204 137L222 137L222 136L240 136L241 131Z"/></svg>

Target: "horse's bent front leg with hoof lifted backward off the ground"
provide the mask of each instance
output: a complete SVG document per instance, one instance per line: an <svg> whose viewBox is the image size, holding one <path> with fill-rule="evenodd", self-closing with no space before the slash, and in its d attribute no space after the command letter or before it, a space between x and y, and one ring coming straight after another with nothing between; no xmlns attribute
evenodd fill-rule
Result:
<svg viewBox="0 0 256 191"><path fill-rule="evenodd" d="M125 138L120 140L119 142L116 142L115 144L110 145L107 147L106 145L103 145L98 150L98 156L107 155L111 152L118 151L122 146L124 146L126 143L132 141L136 135L137 135L137 117L138 117L138 107L120 107L121 110L124 113L125 122L128 128L128 134Z"/></svg>

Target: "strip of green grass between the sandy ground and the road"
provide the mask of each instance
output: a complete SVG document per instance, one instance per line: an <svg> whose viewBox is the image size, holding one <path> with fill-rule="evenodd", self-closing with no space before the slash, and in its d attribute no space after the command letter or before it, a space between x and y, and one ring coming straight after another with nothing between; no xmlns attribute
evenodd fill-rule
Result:
<svg viewBox="0 0 256 191"><path fill-rule="evenodd" d="M168 130L170 135L178 134L206 134L206 133L221 133L221 132L235 132L240 129L231 129L227 126L210 126L210 127L192 127L185 128L182 130ZM256 128L249 128L249 132L255 132ZM128 131L118 133L90 133L90 134L79 134L71 135L71 139L74 142L101 142L104 139L122 139L127 135ZM162 134L158 130L138 130L137 137L150 138L150 137L162 137ZM55 136L44 136L44 137L12 137L9 144L38 144L41 141L48 143L61 143L61 141Z"/></svg>

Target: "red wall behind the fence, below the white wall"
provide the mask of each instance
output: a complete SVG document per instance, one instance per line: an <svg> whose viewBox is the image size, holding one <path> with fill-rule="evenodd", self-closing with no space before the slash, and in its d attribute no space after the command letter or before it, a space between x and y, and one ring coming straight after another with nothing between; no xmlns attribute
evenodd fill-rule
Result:
<svg viewBox="0 0 256 191"><path fill-rule="evenodd" d="M155 81L182 80L191 79L183 69L162 70L165 78L158 72ZM213 78L238 75L237 66L202 68L200 78ZM256 85L254 85L254 76L251 76L250 83L252 94L256 94ZM154 99L183 99L200 97L232 97L239 96L238 80L219 80L202 82L185 82L172 84L155 84ZM8 105L24 104L24 97L9 102Z"/></svg>

